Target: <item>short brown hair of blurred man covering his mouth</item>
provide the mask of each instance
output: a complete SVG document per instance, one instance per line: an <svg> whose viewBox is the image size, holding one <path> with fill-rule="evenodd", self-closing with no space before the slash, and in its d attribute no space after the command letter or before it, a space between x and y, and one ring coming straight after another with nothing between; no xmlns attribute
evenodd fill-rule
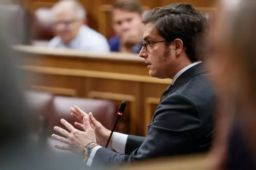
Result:
<svg viewBox="0 0 256 170"><path fill-rule="evenodd" d="M114 9L125 9L131 12L143 13L142 5L138 0L116 0Z"/></svg>

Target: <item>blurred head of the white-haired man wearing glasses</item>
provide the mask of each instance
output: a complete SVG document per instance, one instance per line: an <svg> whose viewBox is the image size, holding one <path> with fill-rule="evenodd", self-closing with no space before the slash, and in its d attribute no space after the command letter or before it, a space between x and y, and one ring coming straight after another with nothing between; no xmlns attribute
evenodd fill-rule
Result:
<svg viewBox="0 0 256 170"><path fill-rule="evenodd" d="M61 0L52 8L55 36L65 43L76 38L85 19L85 9L76 0Z"/></svg>

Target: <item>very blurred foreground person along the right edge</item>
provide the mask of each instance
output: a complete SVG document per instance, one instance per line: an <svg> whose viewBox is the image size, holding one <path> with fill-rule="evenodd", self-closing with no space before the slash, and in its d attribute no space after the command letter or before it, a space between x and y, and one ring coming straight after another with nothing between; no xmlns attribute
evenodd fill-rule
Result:
<svg viewBox="0 0 256 170"><path fill-rule="evenodd" d="M220 0L210 19L205 64L222 110L214 169L256 169L256 1Z"/></svg>

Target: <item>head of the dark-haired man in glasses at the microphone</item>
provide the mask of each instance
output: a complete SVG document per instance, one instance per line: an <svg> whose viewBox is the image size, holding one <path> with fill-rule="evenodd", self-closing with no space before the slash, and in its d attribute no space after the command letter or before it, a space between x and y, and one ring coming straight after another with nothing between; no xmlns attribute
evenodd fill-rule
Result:
<svg viewBox="0 0 256 170"><path fill-rule="evenodd" d="M145 14L143 48L140 57L148 64L149 75L173 78L197 61L195 41L206 26L206 17L190 4L173 3Z"/></svg>

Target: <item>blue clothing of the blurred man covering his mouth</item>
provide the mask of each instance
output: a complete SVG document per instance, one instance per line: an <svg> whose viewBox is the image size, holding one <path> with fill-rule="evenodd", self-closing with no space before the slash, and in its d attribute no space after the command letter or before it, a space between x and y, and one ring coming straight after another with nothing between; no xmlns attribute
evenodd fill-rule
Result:
<svg viewBox="0 0 256 170"><path fill-rule="evenodd" d="M109 45L110 45L111 52L120 52L119 42L120 42L120 39L118 36L114 36L111 39L109 39ZM134 45L132 48L132 53L139 53L141 48L142 48L142 43L138 43L138 44Z"/></svg>

